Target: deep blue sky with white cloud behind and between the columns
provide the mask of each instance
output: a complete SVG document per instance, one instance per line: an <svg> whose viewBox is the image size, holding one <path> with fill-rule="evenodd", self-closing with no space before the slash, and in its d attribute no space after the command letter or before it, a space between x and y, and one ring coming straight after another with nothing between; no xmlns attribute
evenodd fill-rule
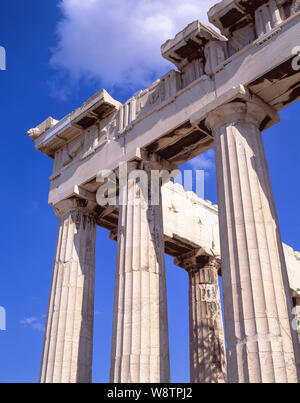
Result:
<svg viewBox="0 0 300 403"><path fill-rule="evenodd" d="M98 8L87 7L97 2ZM118 2L87 0L81 2L86 5L82 10L78 0L64 0L60 8L56 0L0 0L0 46L7 51L7 71L0 71L0 306L7 311L7 331L0 331L0 382L38 381L58 228L47 205L52 161L34 150L26 131L50 115L62 118L102 87L124 101L149 85L169 68L159 56L167 35L204 18L203 3L205 9L214 3L201 2L198 10L199 1L190 0L175 12L174 0L153 0L150 9L144 4L149 2L128 0L117 14L113 11ZM134 2L134 19L124 18ZM97 16L99 24L94 27ZM145 27L138 27L143 40L136 42L134 29L128 27L143 16ZM123 40L122 32L127 35ZM283 111L281 118L264 133L264 143L282 238L300 250L299 104ZM194 167L205 168L205 197L216 203L213 153L198 159ZM106 382L116 245L105 230L98 229L97 235L94 381ZM166 261L171 376L173 382L188 382L188 280L170 258Z"/></svg>

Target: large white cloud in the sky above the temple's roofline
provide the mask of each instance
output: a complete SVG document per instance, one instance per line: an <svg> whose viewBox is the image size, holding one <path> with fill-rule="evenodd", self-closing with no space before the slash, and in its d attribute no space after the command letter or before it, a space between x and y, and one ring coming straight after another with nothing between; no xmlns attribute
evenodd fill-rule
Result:
<svg viewBox="0 0 300 403"><path fill-rule="evenodd" d="M108 90L132 91L148 86L170 67L160 46L196 19L207 23L207 11L216 2L61 0L51 65L73 84L87 79Z"/></svg>

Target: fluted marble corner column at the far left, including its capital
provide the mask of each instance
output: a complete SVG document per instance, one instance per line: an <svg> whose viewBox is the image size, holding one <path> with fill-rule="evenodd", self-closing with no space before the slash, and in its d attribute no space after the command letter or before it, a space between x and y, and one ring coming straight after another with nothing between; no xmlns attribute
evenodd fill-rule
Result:
<svg viewBox="0 0 300 403"><path fill-rule="evenodd" d="M41 383L92 381L96 223L89 203L59 203Z"/></svg>

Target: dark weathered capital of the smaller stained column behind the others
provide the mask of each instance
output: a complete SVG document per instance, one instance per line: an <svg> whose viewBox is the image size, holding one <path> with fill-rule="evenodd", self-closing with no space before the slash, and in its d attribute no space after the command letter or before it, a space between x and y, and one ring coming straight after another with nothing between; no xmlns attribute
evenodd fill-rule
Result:
<svg viewBox="0 0 300 403"><path fill-rule="evenodd" d="M210 268L219 271L221 268L220 258L203 254L201 250L195 250L175 258L176 266L182 267L187 272Z"/></svg>

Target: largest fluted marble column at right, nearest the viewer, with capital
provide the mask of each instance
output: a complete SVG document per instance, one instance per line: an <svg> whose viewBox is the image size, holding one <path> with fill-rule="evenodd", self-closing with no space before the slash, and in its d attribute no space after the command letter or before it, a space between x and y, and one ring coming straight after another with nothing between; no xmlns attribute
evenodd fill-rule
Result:
<svg viewBox="0 0 300 403"><path fill-rule="evenodd" d="M298 382L299 343L261 130L274 113L240 100L210 113L215 138L228 381Z"/></svg>

